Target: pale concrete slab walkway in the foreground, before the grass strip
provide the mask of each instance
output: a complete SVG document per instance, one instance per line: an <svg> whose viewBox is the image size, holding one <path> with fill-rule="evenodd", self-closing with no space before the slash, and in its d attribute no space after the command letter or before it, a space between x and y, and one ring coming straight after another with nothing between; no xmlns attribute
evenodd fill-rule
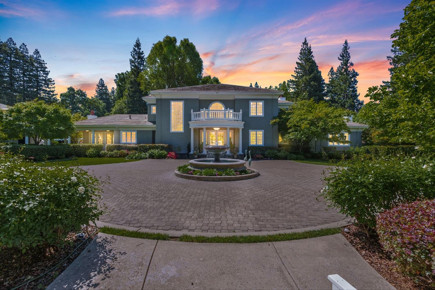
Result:
<svg viewBox="0 0 435 290"><path fill-rule="evenodd" d="M99 233L47 289L394 289L341 235L274 243L184 243Z"/></svg>

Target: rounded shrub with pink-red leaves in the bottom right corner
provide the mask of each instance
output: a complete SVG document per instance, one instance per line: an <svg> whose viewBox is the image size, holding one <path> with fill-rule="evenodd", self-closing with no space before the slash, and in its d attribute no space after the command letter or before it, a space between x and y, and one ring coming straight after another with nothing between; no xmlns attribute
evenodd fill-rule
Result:
<svg viewBox="0 0 435 290"><path fill-rule="evenodd" d="M379 214L376 230L400 269L435 287L435 200L415 201Z"/></svg>

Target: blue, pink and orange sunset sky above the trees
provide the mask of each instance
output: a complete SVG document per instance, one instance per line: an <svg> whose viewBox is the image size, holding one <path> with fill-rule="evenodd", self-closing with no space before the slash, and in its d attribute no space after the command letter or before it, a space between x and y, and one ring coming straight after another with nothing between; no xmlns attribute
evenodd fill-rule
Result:
<svg viewBox="0 0 435 290"><path fill-rule="evenodd" d="M291 78L304 37L323 77L338 66L345 39L358 71L360 98L388 80L390 35L409 0L382 1L4 1L0 38L40 50L56 92L73 86L94 95L103 78L129 69L137 37L145 55L165 35L192 41L204 75L262 87Z"/></svg>

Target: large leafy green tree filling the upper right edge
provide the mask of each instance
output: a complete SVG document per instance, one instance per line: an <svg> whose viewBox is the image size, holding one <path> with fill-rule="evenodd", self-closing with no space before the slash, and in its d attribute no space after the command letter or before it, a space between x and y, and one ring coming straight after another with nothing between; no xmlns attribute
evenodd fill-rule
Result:
<svg viewBox="0 0 435 290"><path fill-rule="evenodd" d="M393 39L390 81L371 87L365 120L395 142L435 151L435 4L413 0ZM380 116L379 119L371 114Z"/></svg>

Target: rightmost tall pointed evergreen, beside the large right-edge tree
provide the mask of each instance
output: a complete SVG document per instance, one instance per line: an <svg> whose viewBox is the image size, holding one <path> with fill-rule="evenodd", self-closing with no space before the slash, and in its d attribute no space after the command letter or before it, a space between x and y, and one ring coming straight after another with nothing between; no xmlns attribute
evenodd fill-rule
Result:
<svg viewBox="0 0 435 290"><path fill-rule="evenodd" d="M331 68L328 73L329 82L326 86L328 102L334 107L358 112L364 101L358 99L358 80L356 77L359 74L353 69L354 64L351 61L348 40L345 40L338 60L340 60L340 65L337 70L334 71Z"/></svg>

